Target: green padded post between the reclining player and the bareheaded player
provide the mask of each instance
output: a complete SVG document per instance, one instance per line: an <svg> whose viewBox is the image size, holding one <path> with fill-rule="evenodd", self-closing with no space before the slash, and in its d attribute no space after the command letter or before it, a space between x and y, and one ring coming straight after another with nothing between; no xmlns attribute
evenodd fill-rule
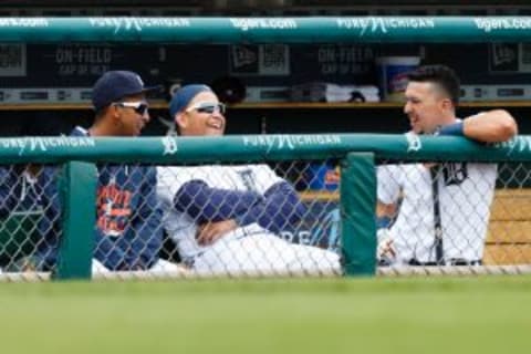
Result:
<svg viewBox="0 0 531 354"><path fill-rule="evenodd" d="M346 277L376 273L374 154L350 153L341 163L341 237Z"/></svg>

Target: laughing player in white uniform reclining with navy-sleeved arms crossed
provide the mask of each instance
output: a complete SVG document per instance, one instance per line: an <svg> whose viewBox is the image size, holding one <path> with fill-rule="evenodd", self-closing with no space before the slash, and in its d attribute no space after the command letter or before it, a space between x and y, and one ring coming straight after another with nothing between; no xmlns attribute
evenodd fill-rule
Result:
<svg viewBox="0 0 531 354"><path fill-rule="evenodd" d="M187 85L170 114L181 135L222 135L225 106L206 85ZM340 273L339 254L277 235L306 212L267 165L158 167L164 226L185 263L207 275Z"/></svg>

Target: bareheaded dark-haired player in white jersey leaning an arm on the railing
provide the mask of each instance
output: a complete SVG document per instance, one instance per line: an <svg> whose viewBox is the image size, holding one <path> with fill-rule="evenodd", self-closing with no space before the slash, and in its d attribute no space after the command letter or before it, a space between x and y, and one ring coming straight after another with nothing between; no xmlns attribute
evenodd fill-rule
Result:
<svg viewBox="0 0 531 354"><path fill-rule="evenodd" d="M458 119L459 79L447 66L420 66L408 80L404 112L412 125L409 134L460 135L498 143L518 132L513 117L502 110ZM496 164L379 166L377 214L379 218L396 217L391 227L378 230L381 262L481 264L496 178Z"/></svg>

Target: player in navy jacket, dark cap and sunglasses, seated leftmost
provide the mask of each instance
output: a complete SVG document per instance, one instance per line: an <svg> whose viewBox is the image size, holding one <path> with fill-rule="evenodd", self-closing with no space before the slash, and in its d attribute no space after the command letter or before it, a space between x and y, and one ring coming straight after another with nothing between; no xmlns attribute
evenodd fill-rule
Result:
<svg viewBox="0 0 531 354"><path fill-rule="evenodd" d="M149 121L147 90L135 73L107 72L93 90L94 125L88 129L76 127L72 136L139 135ZM104 270L152 269L158 261L163 232L155 167L105 164L98 165L97 170L94 258ZM56 261L61 233L55 175L56 169L46 168L40 181L48 197L43 202L46 218L40 225L46 236L41 248L44 268L53 268Z"/></svg>

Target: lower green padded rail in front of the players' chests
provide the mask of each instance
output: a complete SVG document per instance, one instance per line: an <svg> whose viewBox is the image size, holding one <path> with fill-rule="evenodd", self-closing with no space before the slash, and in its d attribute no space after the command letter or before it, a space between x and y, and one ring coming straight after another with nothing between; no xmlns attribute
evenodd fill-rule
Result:
<svg viewBox="0 0 531 354"><path fill-rule="evenodd" d="M478 144L465 137L410 134L0 138L3 164L84 160L178 165L343 158L350 152L374 152L377 159L405 162L531 162L531 136L494 145Z"/></svg>

